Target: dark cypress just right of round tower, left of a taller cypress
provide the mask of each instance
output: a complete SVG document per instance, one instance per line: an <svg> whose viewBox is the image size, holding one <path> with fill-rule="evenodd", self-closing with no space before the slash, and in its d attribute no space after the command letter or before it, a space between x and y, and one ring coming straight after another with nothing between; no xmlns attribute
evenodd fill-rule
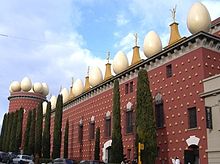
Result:
<svg viewBox="0 0 220 164"><path fill-rule="evenodd" d="M51 117L51 103L47 103L47 110L44 122L44 131L42 138L43 157L50 158L50 118Z"/></svg>

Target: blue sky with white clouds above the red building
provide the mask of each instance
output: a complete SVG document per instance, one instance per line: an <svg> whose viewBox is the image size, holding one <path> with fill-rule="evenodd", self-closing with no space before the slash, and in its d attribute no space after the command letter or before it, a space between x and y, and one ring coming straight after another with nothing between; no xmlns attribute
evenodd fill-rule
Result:
<svg viewBox="0 0 220 164"><path fill-rule="evenodd" d="M84 81L88 66L104 71L123 50L131 60L134 33L142 50L151 30L169 39L170 9L177 5L180 34L189 36L186 17L194 0L1 0L0 5L0 124L8 111L9 85L28 76L46 82L50 93L69 88L71 78ZM212 20L220 16L219 0L201 1ZM103 72L104 74L104 72Z"/></svg>

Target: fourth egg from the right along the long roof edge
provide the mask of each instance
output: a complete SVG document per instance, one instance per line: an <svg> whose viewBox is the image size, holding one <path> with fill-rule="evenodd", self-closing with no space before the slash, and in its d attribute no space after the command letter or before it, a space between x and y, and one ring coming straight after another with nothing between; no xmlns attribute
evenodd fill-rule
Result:
<svg viewBox="0 0 220 164"><path fill-rule="evenodd" d="M96 86L103 81L102 71L99 67L90 67L89 69L89 83L91 86Z"/></svg>

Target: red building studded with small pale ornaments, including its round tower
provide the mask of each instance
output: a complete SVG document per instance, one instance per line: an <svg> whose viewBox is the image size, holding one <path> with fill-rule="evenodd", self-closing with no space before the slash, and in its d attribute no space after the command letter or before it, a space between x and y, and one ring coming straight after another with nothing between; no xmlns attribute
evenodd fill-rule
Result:
<svg viewBox="0 0 220 164"><path fill-rule="evenodd" d="M93 159L95 129L100 127L100 156L101 160L108 162L115 79L120 83L124 154L127 159L135 158L137 74L140 69L146 69L155 105L158 146L156 163L170 163L171 158L176 156L181 163L186 160L208 163L205 104L200 94L204 92L203 79L220 74L219 19L213 21L210 31L182 38L68 100L63 108L62 131L69 119L69 158ZM137 46L134 51L136 49ZM9 111L17 109L21 104L25 109L32 109L44 99L32 93L12 94L9 97ZM53 126L54 113L51 119L51 138ZM63 138L64 133L61 156Z"/></svg>

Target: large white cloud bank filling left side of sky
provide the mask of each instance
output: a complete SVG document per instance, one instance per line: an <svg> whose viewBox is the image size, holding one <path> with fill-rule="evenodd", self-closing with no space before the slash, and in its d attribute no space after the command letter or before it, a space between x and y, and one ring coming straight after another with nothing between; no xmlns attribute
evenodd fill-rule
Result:
<svg viewBox="0 0 220 164"><path fill-rule="evenodd" d="M86 42L76 30L81 11L72 1L7 1L0 15L0 33L9 35L0 37L0 69L5 70L0 72L0 117L8 110L13 80L29 76L32 82L46 82L57 95L60 85L69 88L71 77L84 81L88 65L104 70L105 60L84 48Z"/></svg>

